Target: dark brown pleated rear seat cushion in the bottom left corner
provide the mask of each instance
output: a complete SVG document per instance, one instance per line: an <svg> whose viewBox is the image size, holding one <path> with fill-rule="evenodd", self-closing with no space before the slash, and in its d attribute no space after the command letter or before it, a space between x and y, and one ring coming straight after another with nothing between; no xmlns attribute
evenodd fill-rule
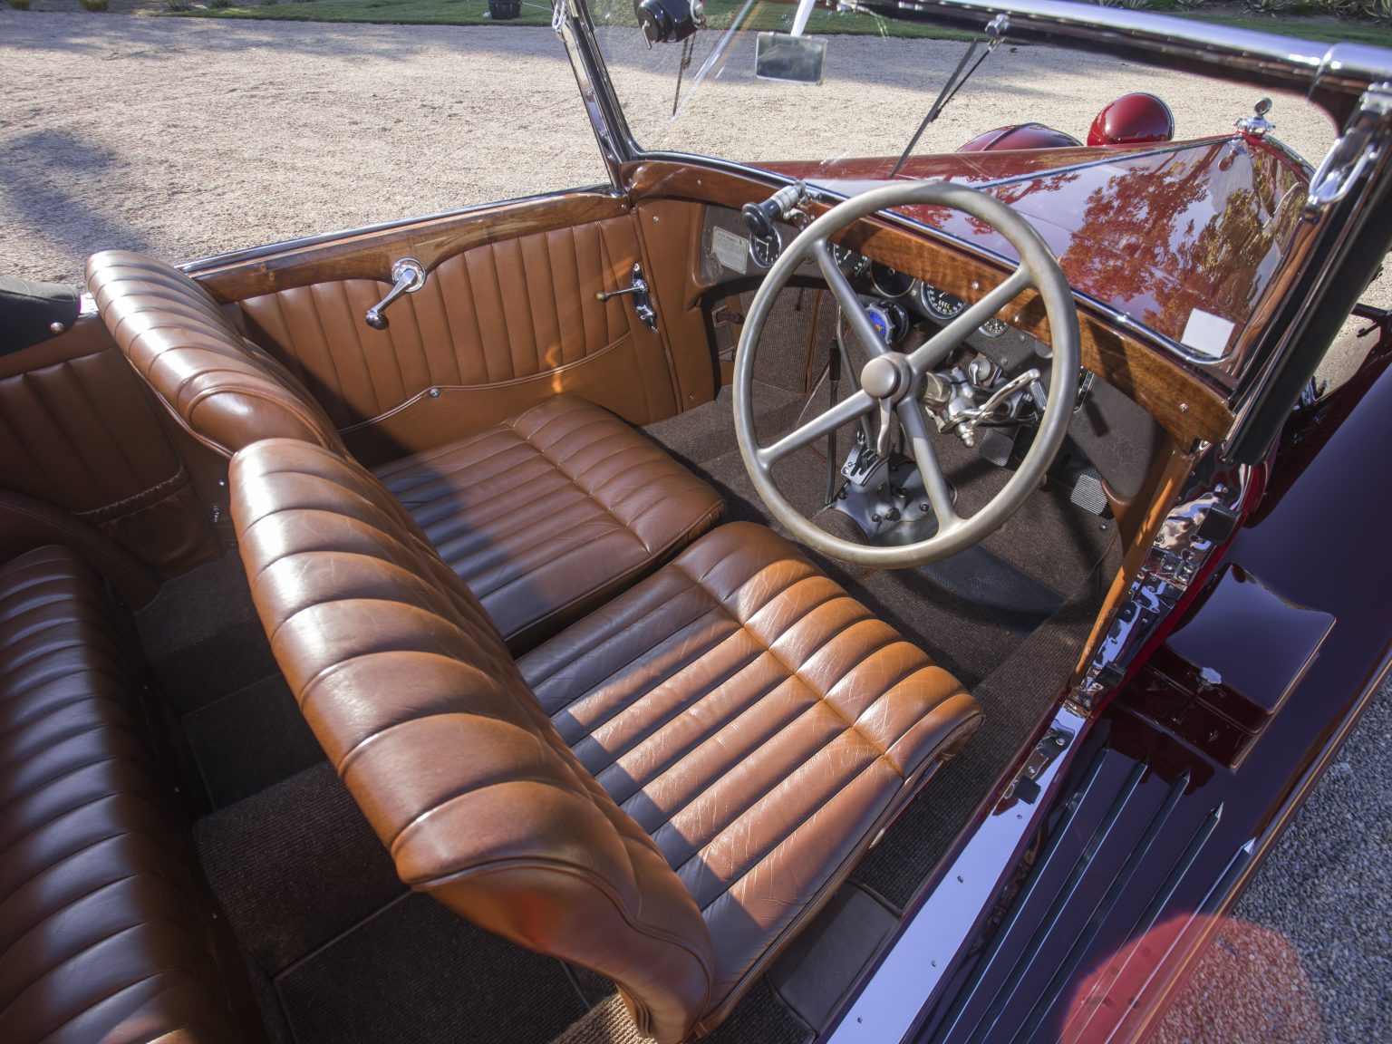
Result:
<svg viewBox="0 0 1392 1044"><path fill-rule="evenodd" d="M156 771L136 664L71 551L0 564L6 1044L260 1036L232 1015L244 973Z"/></svg>

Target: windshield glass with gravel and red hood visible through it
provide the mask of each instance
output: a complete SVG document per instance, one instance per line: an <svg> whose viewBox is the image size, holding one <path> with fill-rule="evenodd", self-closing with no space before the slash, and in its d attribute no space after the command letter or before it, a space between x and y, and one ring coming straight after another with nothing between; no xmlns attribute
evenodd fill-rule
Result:
<svg viewBox="0 0 1392 1044"><path fill-rule="evenodd" d="M1239 344L1299 219L1307 168L1276 139L1314 161L1334 139L1324 111L1296 96L1276 97L1276 129L1258 142L1233 132L1263 96L1254 88L1045 46L1005 42L987 54L984 35L821 7L807 33L828 42L823 82L756 78L759 32L788 32L793 14L791 4L715 0L706 29L647 49L631 0L599 0L596 35L636 143L853 195L892 175L944 85L980 58L898 177L987 188L1038 228L1076 291L1200 363ZM1173 142L1087 148L1094 118L1129 92L1168 104ZM988 134L1018 124L1043 125L1041 136ZM959 152L973 139L976 150ZM1020 150L1040 143L1048 148ZM962 214L908 216L1013 260L1004 239Z"/></svg>

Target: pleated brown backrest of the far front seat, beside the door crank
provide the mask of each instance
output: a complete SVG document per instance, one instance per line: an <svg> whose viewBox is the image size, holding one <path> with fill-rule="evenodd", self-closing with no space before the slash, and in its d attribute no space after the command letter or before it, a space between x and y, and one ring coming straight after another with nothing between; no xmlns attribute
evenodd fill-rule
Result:
<svg viewBox="0 0 1392 1044"><path fill-rule="evenodd" d="M178 269L129 251L88 259L102 322L156 395L193 437L224 457L258 438L302 438L342 451L303 384L232 326Z"/></svg>

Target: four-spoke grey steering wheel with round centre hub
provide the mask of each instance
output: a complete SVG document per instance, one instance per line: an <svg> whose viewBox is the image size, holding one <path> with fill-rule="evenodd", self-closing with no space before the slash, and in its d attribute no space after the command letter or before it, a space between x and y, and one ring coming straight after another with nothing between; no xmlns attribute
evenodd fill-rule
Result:
<svg viewBox="0 0 1392 1044"><path fill-rule="evenodd" d="M909 205L948 206L972 214L1004 235L1015 248L1020 263L999 285L966 308L927 342L905 354L892 351L878 335L851 280L832 258L828 244L835 232L862 217L887 207ZM774 298L809 255L816 258L869 362L860 370L859 390L855 394L771 445L759 445L753 412L754 355L759 351L759 338ZM963 518L954 508L952 490L928 440L924 406L920 405L919 397L924 386L941 387L940 379L933 374L933 367L944 362L981 323L1026 288L1034 288L1044 299L1052 340L1048 400L1043 406L1043 420L1033 444L1009 482L980 511ZM877 569L924 565L984 540L999 529L1040 484L1068 433L1073 402L1077 398L1079 366L1077 312L1068 278L1044 239L1025 219L998 199L965 185L942 181L885 185L834 206L807 226L770 269L745 317L745 330L735 359L735 434L739 438L745 468L764 505L798 540L831 558L855 565ZM937 532L926 540L876 547L835 537L803 516L774 484L773 468L778 461L871 411L880 413L881 443L887 440L891 412L899 418L923 477L928 504L938 521Z"/></svg>

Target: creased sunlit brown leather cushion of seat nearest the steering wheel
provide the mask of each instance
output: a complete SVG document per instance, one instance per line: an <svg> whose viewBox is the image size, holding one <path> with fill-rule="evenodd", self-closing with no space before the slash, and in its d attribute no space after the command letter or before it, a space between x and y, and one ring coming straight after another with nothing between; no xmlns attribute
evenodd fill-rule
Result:
<svg viewBox="0 0 1392 1044"><path fill-rule="evenodd" d="M707 533L518 665L702 909L703 1029L980 724L951 674L750 523Z"/></svg>

